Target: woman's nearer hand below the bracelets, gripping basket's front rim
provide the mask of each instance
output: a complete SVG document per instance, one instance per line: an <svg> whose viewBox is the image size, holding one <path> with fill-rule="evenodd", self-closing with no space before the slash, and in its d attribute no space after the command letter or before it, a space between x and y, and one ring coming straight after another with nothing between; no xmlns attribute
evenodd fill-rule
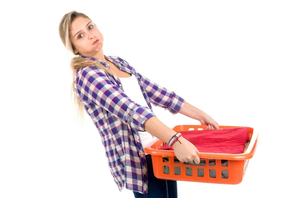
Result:
<svg viewBox="0 0 298 198"><path fill-rule="evenodd" d="M180 137L178 140L181 142L181 144L177 141L172 146L177 159L181 162L195 161L196 164L199 164L199 150L192 143L190 143L183 137Z"/></svg>

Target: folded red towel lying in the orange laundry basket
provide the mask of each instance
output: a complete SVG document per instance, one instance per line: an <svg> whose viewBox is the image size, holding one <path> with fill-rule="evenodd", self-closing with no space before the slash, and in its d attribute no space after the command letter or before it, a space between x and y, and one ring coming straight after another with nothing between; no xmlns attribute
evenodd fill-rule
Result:
<svg viewBox="0 0 298 198"><path fill-rule="evenodd" d="M180 133L200 152L239 154L243 153L245 144L249 141L248 127L181 131ZM168 145L159 149L173 150Z"/></svg>

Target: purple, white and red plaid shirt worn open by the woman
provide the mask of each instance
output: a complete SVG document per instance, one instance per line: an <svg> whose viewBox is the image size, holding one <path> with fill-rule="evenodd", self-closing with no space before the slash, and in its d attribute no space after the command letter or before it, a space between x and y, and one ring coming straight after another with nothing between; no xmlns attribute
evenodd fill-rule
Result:
<svg viewBox="0 0 298 198"><path fill-rule="evenodd" d="M110 70L110 66L99 59L81 57L97 61ZM75 92L101 136L109 168L119 191L126 187L142 194L148 193L146 156L138 131L145 131L144 122L155 116L150 103L176 114L184 99L151 82L120 57L104 57L121 71L137 77L150 109L125 95L117 76L111 76L95 66L77 69Z"/></svg>

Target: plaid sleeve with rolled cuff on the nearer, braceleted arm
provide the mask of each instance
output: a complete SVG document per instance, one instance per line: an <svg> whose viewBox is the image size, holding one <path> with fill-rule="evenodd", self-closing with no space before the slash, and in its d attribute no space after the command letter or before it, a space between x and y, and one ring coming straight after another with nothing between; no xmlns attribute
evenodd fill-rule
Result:
<svg viewBox="0 0 298 198"><path fill-rule="evenodd" d="M144 122L155 116L150 109L125 95L109 80L104 70L95 66L78 69L76 84L81 100L104 108L135 130L145 131Z"/></svg>

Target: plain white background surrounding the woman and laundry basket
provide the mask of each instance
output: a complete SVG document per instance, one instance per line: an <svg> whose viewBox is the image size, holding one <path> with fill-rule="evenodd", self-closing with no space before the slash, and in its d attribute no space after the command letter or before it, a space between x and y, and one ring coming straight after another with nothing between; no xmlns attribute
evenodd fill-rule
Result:
<svg viewBox="0 0 298 198"><path fill-rule="evenodd" d="M58 33L72 10L97 24L105 55L220 125L259 130L242 183L178 182L179 198L297 195L297 1L27 0L0 9L0 198L133 197L113 181L91 119L75 116L72 55ZM200 124L153 110L169 127Z"/></svg>

